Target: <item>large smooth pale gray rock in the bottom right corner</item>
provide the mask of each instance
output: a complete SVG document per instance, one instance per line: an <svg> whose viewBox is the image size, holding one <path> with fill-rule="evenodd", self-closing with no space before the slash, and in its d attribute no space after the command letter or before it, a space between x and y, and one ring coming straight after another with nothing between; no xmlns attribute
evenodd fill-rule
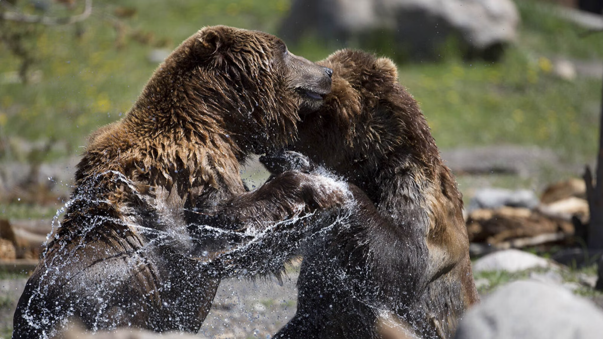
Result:
<svg viewBox="0 0 603 339"><path fill-rule="evenodd" d="M603 312L557 285L512 282L465 315L456 339L595 339Z"/></svg>

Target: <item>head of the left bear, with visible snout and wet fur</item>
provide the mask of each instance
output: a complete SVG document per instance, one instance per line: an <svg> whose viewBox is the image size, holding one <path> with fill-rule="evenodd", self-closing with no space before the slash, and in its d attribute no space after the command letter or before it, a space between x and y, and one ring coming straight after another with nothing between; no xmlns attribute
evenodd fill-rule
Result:
<svg viewBox="0 0 603 339"><path fill-rule="evenodd" d="M317 110L332 71L288 51L260 31L205 27L159 66L135 105L143 119L224 135L240 155L282 147L295 136L298 114ZM202 131L201 131L202 130Z"/></svg>

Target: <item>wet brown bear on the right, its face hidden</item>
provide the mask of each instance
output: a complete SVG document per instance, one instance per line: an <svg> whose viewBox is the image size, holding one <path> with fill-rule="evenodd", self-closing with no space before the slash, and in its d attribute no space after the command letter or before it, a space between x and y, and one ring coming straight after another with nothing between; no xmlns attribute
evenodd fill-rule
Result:
<svg viewBox="0 0 603 339"><path fill-rule="evenodd" d="M344 50L319 64L332 92L290 149L361 188L377 214L359 208L308 240L297 314L275 338L450 338L479 301L455 179L393 62ZM260 160L308 168L295 153Z"/></svg>

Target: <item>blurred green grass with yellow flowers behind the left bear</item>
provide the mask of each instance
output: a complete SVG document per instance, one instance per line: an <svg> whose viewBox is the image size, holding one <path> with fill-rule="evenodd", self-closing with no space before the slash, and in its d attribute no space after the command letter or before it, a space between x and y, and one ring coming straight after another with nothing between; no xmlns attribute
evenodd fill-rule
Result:
<svg viewBox="0 0 603 339"><path fill-rule="evenodd" d="M75 25L36 28L31 34L27 46L35 54L32 70L41 71L43 81L0 84L0 137L65 140L67 153L77 153L90 131L119 119L136 100L157 66L147 61L154 45L174 48L206 25L274 31L289 1L130 0L95 5L79 38ZM118 5L137 10L123 21L131 33L124 44L110 19ZM9 28L24 30L23 25ZM150 42L138 42L135 36L141 34ZM0 60L0 74L19 68L20 61L7 48L0 48Z"/></svg>

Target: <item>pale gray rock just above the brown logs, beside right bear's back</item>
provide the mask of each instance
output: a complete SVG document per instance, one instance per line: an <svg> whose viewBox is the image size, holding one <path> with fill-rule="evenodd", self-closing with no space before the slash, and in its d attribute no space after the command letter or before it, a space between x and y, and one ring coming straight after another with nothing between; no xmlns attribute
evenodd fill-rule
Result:
<svg viewBox="0 0 603 339"><path fill-rule="evenodd" d="M538 206L538 197L533 191L519 189L511 191L503 188L482 188L475 192L467 206L467 212L476 209L497 209L502 206L523 207L532 209Z"/></svg>

